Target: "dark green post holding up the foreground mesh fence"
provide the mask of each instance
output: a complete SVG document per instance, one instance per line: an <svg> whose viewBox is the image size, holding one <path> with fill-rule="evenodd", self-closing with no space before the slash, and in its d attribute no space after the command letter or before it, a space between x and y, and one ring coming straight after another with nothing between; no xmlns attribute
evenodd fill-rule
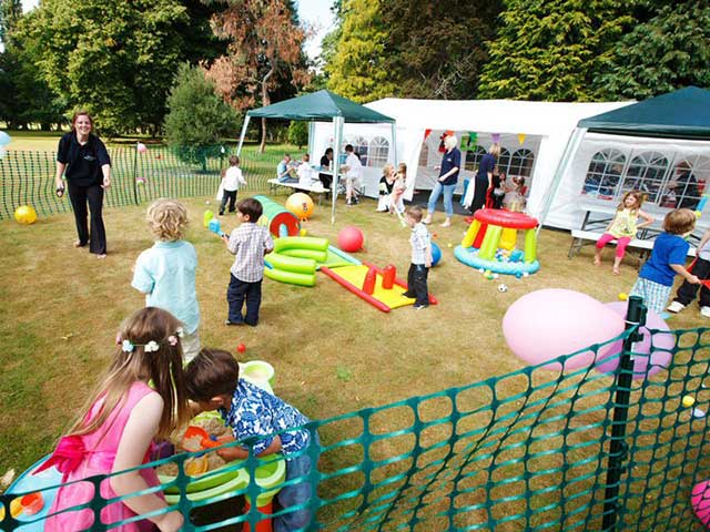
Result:
<svg viewBox="0 0 710 532"><path fill-rule="evenodd" d="M625 437L629 415L629 401L631 399L631 377L633 375L631 349L635 342L643 338L639 329L645 324L646 306L643 305L643 299L638 296L629 297L629 307L626 314L626 329L628 330L632 327L637 329L623 340L623 349L619 355L619 368L615 377L616 396L613 399L611 440L609 444L607 482L604 492L604 516L601 521L601 530L605 532L613 532L617 530L619 481L623 472L623 462L628 458L628 444L625 441Z"/></svg>

